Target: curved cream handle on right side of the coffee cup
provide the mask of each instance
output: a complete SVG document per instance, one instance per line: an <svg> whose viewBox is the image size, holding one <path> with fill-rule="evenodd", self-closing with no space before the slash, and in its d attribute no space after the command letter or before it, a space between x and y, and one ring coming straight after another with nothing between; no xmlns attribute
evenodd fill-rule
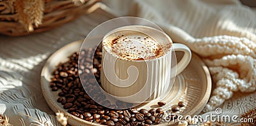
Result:
<svg viewBox="0 0 256 126"><path fill-rule="evenodd" d="M192 54L191 54L191 50L188 48L188 46L180 44L180 43L173 43L173 49L174 51L182 51L184 52L184 55L182 57L182 59L180 60L180 62L178 62L176 64L177 67L177 74L180 74L189 64ZM173 77L173 76L172 76Z"/></svg>

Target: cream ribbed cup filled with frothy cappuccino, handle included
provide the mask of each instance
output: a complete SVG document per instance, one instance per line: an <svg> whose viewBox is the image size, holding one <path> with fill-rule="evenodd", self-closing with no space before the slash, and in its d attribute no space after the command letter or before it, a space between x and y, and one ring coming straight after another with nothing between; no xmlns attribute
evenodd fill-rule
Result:
<svg viewBox="0 0 256 126"><path fill-rule="evenodd" d="M191 52L185 45L173 44L163 31L143 25L109 31L102 39L101 87L115 99L136 104L164 97L175 75L172 47L184 52L177 65L180 73L188 66Z"/></svg>

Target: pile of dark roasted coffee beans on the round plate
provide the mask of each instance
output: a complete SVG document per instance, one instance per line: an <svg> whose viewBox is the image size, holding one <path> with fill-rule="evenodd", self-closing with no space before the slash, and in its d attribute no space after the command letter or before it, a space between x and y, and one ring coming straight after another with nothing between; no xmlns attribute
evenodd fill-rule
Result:
<svg viewBox="0 0 256 126"><path fill-rule="evenodd" d="M84 58L79 59L79 55ZM90 60L93 57L93 63ZM161 123L164 116L164 111L161 108L157 109L109 109L97 102L86 94L84 88L90 89L89 92L96 92L93 97L97 101L104 102L111 106L111 108L120 108L125 106L124 102L116 101L111 104L106 100L105 95L97 94L97 89L93 85L94 77L100 84L100 70L101 70L102 47L99 46L93 55L92 48L81 51L80 54L73 53L67 62L61 63L52 73L50 87L52 91L61 90L57 101L67 109L68 113L81 118L88 122L99 123L102 125L154 125ZM82 62L83 64L78 64ZM81 65L81 66L79 66ZM86 76L85 85L82 85L79 78L79 73ZM88 76L90 78L88 78ZM84 86L84 88L83 88ZM164 102L159 102L159 105L164 105ZM130 104L131 105L131 104ZM179 106L185 106L180 102ZM173 111L179 111L178 108L172 108Z"/></svg>

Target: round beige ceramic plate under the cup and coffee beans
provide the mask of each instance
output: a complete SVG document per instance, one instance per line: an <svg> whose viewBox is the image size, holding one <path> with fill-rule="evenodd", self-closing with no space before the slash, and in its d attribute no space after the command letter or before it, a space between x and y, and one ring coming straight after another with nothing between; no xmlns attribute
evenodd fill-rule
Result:
<svg viewBox="0 0 256 126"><path fill-rule="evenodd" d="M49 87L52 71L56 69L56 66L58 66L60 62L66 62L68 60L68 56L72 53L79 52L82 43L83 41L75 41L63 46L53 53L49 59L47 59L44 67L42 68L41 88L45 101L49 107L54 112L63 111L65 116L68 116L68 124L99 125L97 123L87 122L68 113L63 109L63 106L57 102L58 91L52 92ZM176 52L176 55L178 60L182 57L182 53ZM205 66L200 57L193 53L189 66L176 77L175 83L169 94L167 94L164 99L161 99L161 101L166 102L166 105L161 108L164 110L171 109L173 105L178 104L179 101L183 101L186 102L186 108L180 111L180 115L198 115L202 109L204 109L205 104L209 100L211 95L211 85L209 69ZM159 106L157 106L157 102L159 102L159 99L154 99L154 101L140 104L140 106L136 106L136 108L159 108ZM159 125L170 125L170 123L161 123Z"/></svg>

